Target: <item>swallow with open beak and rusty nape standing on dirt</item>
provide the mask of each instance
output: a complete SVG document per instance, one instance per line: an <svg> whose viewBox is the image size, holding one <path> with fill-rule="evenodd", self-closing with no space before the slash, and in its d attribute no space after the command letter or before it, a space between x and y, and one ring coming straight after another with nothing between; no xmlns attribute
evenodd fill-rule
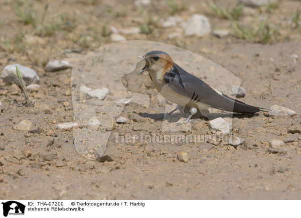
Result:
<svg viewBox="0 0 301 218"><path fill-rule="evenodd" d="M265 108L246 104L212 88L202 79L180 67L164 51L153 50L138 57L145 60L145 65L139 74L147 71L158 92L167 100L177 104L177 107L166 114L165 118L170 117L176 110L180 110L183 114L187 111L186 108L189 109L189 115L184 122L190 121L198 110L202 115L207 116L209 107L248 114L266 111Z"/></svg>

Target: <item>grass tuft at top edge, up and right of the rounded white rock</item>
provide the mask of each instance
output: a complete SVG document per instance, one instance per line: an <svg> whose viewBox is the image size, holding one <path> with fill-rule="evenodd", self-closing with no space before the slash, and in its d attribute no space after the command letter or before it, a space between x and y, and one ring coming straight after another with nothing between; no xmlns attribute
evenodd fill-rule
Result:
<svg viewBox="0 0 301 218"><path fill-rule="evenodd" d="M209 3L209 7L219 16L225 19L237 19L244 8L243 4L227 4L218 5L216 3Z"/></svg>

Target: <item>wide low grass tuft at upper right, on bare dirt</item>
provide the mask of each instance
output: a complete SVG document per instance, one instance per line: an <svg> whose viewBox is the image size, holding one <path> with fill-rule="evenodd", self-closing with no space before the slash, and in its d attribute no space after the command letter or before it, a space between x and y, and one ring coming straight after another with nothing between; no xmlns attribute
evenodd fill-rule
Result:
<svg viewBox="0 0 301 218"><path fill-rule="evenodd" d="M260 21L259 25L254 24L253 27L241 26L238 23L233 23L232 35L243 38L251 42L267 43L277 32L274 27L267 24L265 21Z"/></svg>

